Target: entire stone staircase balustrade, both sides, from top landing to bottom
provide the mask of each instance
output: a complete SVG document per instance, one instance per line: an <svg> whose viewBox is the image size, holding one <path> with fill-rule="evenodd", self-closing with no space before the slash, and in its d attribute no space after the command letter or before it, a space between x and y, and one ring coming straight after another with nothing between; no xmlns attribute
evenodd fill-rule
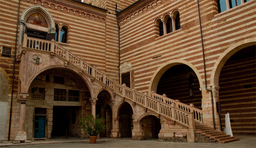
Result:
<svg viewBox="0 0 256 148"><path fill-rule="evenodd" d="M189 125L188 121L192 121L192 119L188 119L190 118L188 114L191 111L194 112L195 120L203 122L202 110L181 103L179 100L173 100L153 92L151 92L149 96L147 94L142 94L135 91L134 89L128 88L125 86L125 84L118 84L110 79L106 74L103 74L97 70L96 67L85 62L82 57L78 58L75 54L70 53L67 49L61 47L54 40L46 41L42 39L30 38L24 34L24 39L21 46L23 48L46 51L51 54L54 53L56 56L59 56L59 58L65 59L66 62L80 68L86 74L91 75L92 80L95 78L103 84L106 84L106 86L113 89L116 94L133 101L134 104L139 104L144 108L148 108L167 118L171 118L186 127Z"/></svg>

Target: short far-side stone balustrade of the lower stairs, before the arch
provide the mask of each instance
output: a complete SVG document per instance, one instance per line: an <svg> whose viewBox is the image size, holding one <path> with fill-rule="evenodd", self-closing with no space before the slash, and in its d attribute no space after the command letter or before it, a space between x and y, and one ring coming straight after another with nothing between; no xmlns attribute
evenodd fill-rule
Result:
<svg viewBox="0 0 256 148"><path fill-rule="evenodd" d="M167 104L175 103L176 107L178 107L178 108L180 108L180 109L182 109L186 112L193 111L194 116L195 116L195 120L198 121L198 122L201 122L201 123L203 122L203 110L195 108L193 104L187 105L187 104L181 103L179 100L173 100L173 99L170 99L170 98L166 97L165 94L164 95L159 95L159 94L156 94L154 92L151 92L150 94L155 99L160 100L162 102L165 102Z"/></svg>

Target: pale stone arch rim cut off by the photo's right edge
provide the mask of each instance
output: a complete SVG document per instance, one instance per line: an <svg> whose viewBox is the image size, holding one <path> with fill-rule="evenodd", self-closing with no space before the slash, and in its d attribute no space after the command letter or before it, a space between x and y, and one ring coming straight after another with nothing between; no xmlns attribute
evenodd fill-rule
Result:
<svg viewBox="0 0 256 148"><path fill-rule="evenodd" d="M219 76L222 67L224 64L227 62L227 60L236 52L239 50L248 47L256 45L256 39L251 38L251 39L245 39L240 42L237 42L230 47L228 47L222 54L220 54L218 60L216 60L213 68L212 68L212 73L211 73L211 79L210 79L210 85L211 86L219 86Z"/></svg>

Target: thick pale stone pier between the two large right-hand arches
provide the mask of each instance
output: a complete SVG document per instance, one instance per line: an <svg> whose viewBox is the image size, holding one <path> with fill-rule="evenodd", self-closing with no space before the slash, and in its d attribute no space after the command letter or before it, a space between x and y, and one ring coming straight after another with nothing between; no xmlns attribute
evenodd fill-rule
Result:
<svg viewBox="0 0 256 148"><path fill-rule="evenodd" d="M217 113L216 102L219 101L219 88L218 86L210 86L207 87L212 90L213 95L213 108L214 108L214 119L215 119L215 127L220 130L220 119L219 113ZM206 125L214 127L213 122L213 110L212 110L212 95L211 91L208 91L204 88L200 88L202 91L202 110L203 112L203 122Z"/></svg>

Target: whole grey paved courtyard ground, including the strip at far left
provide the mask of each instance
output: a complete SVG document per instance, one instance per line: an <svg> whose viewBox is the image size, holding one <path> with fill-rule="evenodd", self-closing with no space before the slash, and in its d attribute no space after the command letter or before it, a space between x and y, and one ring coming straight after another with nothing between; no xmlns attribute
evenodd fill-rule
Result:
<svg viewBox="0 0 256 148"><path fill-rule="evenodd" d="M255 135L234 135L240 138L226 144L218 143L179 143L159 142L158 139L132 140L131 138L110 139L100 138L96 144L90 144L88 139L76 137L57 137L52 140L31 140L29 144L12 144L12 142L1 142L0 147L6 148L256 148Z"/></svg>

